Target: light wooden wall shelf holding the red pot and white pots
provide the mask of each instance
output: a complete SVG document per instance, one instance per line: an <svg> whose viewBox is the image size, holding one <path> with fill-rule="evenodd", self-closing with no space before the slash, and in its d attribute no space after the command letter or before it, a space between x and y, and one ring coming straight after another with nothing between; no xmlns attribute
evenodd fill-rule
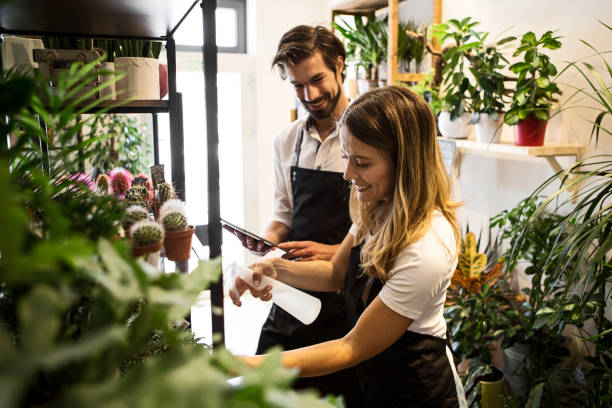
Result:
<svg viewBox="0 0 612 408"><path fill-rule="evenodd" d="M544 146L516 146L510 140L501 140L500 143L481 143L470 139L448 139L444 137L439 137L438 139L455 143L457 153L453 161L453 171L457 176L459 176L461 158L464 151L479 151L522 157L542 157L546 159L555 172L560 172L563 171L563 167L557 161L557 157L574 156L575 160L579 161L586 149L585 146L577 144L546 143ZM575 194L575 191L573 192Z"/></svg>

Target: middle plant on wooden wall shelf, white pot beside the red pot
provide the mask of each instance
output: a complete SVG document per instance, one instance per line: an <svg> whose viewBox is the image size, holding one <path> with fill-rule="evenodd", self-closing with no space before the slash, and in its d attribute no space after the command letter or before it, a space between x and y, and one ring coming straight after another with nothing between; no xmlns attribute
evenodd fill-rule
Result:
<svg viewBox="0 0 612 408"><path fill-rule="evenodd" d="M508 60L498 47L513 41L515 37L485 44L487 35L485 33L482 36L474 53L469 55L470 71L477 83L470 110L473 112L476 140L481 143L499 143L504 118L504 95L507 92L505 81L509 78L501 72Z"/></svg>

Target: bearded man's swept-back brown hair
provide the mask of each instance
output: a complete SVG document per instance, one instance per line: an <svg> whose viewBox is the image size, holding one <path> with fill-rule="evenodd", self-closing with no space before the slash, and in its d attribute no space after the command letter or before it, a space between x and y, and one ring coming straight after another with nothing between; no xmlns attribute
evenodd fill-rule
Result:
<svg viewBox="0 0 612 408"><path fill-rule="evenodd" d="M320 52L325 65L336 72L338 56L346 59L344 44L329 29L322 26L299 25L283 34L278 43L272 67L277 67L281 78L287 78L286 67L296 65ZM342 71L344 80L344 70Z"/></svg>

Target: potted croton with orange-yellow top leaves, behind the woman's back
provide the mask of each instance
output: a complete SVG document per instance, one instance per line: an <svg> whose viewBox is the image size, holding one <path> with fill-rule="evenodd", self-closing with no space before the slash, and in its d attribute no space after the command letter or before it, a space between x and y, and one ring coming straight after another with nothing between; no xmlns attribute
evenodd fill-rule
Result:
<svg viewBox="0 0 612 408"><path fill-rule="evenodd" d="M492 364L491 353L508 326L511 312L499 282L503 261L497 261L495 245L478 252L479 242L467 232L461 245L457 270L447 293L444 316L453 350L468 363L465 388L471 403L482 407L502 407L504 375Z"/></svg>

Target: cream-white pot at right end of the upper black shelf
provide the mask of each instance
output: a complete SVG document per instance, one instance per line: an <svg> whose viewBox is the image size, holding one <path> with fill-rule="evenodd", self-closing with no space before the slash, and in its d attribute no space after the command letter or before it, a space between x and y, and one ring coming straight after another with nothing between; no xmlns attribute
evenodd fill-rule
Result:
<svg viewBox="0 0 612 408"><path fill-rule="evenodd" d="M125 76L117 81L117 99L159 99L159 62L155 58L115 58L115 72Z"/></svg>

